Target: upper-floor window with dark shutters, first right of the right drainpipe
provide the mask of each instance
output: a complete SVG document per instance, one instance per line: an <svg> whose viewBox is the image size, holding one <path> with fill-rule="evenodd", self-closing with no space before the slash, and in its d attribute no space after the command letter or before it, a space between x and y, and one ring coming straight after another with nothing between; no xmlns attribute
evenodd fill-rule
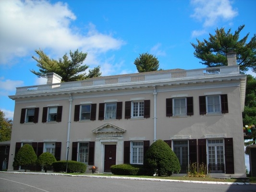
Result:
<svg viewBox="0 0 256 192"><path fill-rule="evenodd" d="M194 115L193 97L175 97L166 99L166 116Z"/></svg>

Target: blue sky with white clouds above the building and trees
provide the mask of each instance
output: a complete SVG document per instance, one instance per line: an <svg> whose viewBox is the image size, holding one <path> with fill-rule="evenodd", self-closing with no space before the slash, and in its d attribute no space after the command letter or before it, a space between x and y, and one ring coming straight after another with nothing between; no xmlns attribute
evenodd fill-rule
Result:
<svg viewBox="0 0 256 192"><path fill-rule="evenodd" d="M35 49L50 58L87 52L85 64L103 76L137 72L150 53L161 69L205 68L191 43L225 27L256 33L256 0L0 0L0 110L12 119L15 87L46 84ZM253 73L255 75L255 73Z"/></svg>

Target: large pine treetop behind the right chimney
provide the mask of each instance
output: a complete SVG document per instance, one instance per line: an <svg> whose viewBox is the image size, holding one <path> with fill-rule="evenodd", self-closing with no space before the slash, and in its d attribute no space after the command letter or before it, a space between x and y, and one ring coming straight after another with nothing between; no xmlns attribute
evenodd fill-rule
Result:
<svg viewBox="0 0 256 192"><path fill-rule="evenodd" d="M228 61L226 53L229 51L236 52L237 64L240 65L242 72L248 71L251 68L256 72L256 34L247 43L249 33L242 39L239 39L239 34L245 25L241 25L238 29L231 33L231 29L225 32L224 27L216 29L215 35L209 34L209 39L197 41L197 45L191 43L195 48L194 55L202 60L202 64L208 67L227 66Z"/></svg>

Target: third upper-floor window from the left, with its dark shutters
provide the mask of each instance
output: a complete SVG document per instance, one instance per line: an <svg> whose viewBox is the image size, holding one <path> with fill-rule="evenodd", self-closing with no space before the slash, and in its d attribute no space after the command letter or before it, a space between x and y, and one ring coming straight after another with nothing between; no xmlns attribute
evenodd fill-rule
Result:
<svg viewBox="0 0 256 192"><path fill-rule="evenodd" d="M96 120L96 104L74 106L74 121Z"/></svg>

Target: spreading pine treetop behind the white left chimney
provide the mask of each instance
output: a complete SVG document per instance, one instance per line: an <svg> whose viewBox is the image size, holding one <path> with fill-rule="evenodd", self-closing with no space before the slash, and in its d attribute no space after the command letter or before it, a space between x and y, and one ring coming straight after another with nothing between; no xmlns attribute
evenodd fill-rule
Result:
<svg viewBox="0 0 256 192"><path fill-rule="evenodd" d="M38 77L47 77L47 73L55 72L62 77L62 82L80 81L92 77L98 77L101 75L100 67L96 67L93 70L89 70L88 75L86 75L85 70L89 68L87 65L83 65L87 53L79 52L78 49L75 52L70 51L71 60L67 54L65 54L62 59L54 60L50 59L41 49L35 50L39 58L32 57L37 61L37 67L39 67L39 72L35 70L30 70Z"/></svg>

